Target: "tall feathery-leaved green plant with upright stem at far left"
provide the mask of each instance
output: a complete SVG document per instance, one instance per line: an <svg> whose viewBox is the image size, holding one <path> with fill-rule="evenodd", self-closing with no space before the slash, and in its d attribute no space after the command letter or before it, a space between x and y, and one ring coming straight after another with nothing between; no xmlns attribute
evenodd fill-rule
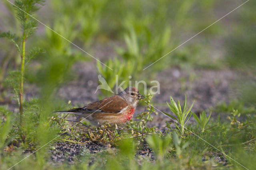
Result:
<svg viewBox="0 0 256 170"><path fill-rule="evenodd" d="M36 32L37 23L29 15L34 14L39 7L37 5L43 5L44 0L16 0L14 5L16 8L16 16L20 22L22 29L22 37L11 34L10 32L5 32L0 34L0 37L8 38L17 48L17 51L21 56L20 64L20 76L19 77L19 105L20 105L20 125L23 124L23 83L24 83L24 71L25 71L25 60L28 58L28 61L38 53L42 52L40 49L34 49L30 51L30 54L26 55L26 41L28 37L32 36Z"/></svg>

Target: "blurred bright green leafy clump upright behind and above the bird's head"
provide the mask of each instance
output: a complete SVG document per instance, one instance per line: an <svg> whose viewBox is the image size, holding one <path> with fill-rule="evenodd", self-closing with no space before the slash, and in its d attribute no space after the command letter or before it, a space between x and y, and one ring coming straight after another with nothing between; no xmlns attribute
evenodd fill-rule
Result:
<svg viewBox="0 0 256 170"><path fill-rule="evenodd" d="M152 61L156 61L159 57L167 53L170 33L171 29L168 26L163 28L161 33L157 31L157 28L153 32L146 26L136 32L135 28L130 26L128 33L124 34L126 49L116 48L116 51L125 61L133 61L135 63L133 72L140 73ZM157 65L158 69L164 68L163 61L160 61Z"/></svg>

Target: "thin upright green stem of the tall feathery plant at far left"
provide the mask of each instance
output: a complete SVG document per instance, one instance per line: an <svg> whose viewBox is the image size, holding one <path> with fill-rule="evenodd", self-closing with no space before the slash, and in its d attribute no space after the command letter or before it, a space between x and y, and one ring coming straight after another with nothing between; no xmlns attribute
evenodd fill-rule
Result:
<svg viewBox="0 0 256 170"><path fill-rule="evenodd" d="M26 23L28 22L28 15L26 14ZM20 66L20 125L23 125L23 81L24 81L24 63L25 63L25 45L26 45L26 31L23 31L22 37L22 54L21 54L21 66Z"/></svg>

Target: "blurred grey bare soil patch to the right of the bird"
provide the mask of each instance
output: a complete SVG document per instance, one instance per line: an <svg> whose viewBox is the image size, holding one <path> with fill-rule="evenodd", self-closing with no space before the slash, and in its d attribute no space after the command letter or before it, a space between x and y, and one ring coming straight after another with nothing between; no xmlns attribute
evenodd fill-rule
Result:
<svg viewBox="0 0 256 170"><path fill-rule="evenodd" d="M234 95L230 87L232 82L238 78L238 73L232 70L203 70L195 69L182 71L180 69L168 69L158 73L156 80L160 82L160 94L153 97L154 106L160 111L171 113L166 102L170 102L170 96L175 101L184 102L186 94L187 106L194 101L192 111L196 114L206 111L210 113L212 107L220 102L228 103ZM158 112L160 112L158 111ZM218 113L212 113L216 118ZM163 127L165 121L171 121L164 114L154 116L151 125Z"/></svg>

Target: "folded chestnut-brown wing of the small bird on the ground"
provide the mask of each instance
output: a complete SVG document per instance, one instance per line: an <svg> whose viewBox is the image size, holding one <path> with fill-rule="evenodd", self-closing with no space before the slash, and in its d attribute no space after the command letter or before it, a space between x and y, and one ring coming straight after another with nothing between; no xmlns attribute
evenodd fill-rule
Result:
<svg viewBox="0 0 256 170"><path fill-rule="evenodd" d="M118 113L127 105L127 102L122 97L115 95L80 108L70 109L67 112Z"/></svg>

